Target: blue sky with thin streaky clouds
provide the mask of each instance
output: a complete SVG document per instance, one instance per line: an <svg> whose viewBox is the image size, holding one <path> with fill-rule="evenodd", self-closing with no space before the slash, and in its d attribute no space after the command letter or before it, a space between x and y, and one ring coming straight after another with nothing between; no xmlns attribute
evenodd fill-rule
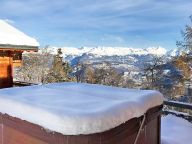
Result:
<svg viewBox="0 0 192 144"><path fill-rule="evenodd" d="M176 47L192 0L0 0L0 19L41 46Z"/></svg>

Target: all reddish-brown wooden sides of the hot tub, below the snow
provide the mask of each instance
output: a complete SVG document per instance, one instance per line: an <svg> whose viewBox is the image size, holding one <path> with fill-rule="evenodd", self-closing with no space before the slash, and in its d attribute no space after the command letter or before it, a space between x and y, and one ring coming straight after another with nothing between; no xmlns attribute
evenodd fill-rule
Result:
<svg viewBox="0 0 192 144"><path fill-rule="evenodd" d="M146 115L137 144L160 144L161 107L152 108ZM133 144L143 116L97 134L62 135L47 132L42 127L0 114L0 144Z"/></svg>

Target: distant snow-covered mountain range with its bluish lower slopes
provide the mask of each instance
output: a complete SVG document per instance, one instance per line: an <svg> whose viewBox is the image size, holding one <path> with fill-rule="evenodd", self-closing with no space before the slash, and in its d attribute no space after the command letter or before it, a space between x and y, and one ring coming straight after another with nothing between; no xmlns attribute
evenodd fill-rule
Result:
<svg viewBox="0 0 192 144"><path fill-rule="evenodd" d="M57 54L59 47L48 47L52 54ZM137 82L142 81L143 68L153 60L153 56L175 56L177 51L169 51L163 47L129 48L129 47L61 47L64 60L72 67L83 63L93 68L113 67L125 77ZM41 52L41 50L39 51Z"/></svg>

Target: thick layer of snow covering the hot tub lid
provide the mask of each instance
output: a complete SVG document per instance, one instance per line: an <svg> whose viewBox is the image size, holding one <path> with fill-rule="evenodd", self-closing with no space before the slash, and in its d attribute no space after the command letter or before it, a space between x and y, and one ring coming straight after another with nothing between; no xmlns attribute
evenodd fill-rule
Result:
<svg viewBox="0 0 192 144"><path fill-rule="evenodd" d="M161 105L153 90L57 83L0 90L0 112L65 135L104 132Z"/></svg>

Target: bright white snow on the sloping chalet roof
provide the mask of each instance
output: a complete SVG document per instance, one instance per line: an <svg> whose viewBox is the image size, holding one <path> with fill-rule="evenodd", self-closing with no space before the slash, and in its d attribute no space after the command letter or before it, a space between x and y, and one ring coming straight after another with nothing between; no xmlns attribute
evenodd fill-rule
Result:
<svg viewBox="0 0 192 144"><path fill-rule="evenodd" d="M39 43L18 29L14 28L4 20L0 19L0 44L39 46Z"/></svg>

